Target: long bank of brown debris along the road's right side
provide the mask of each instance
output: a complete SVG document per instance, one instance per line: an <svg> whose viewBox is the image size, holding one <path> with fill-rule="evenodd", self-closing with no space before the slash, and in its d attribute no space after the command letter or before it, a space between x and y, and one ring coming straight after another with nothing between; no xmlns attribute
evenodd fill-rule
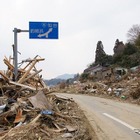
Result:
<svg viewBox="0 0 140 140"><path fill-rule="evenodd" d="M57 88L57 90L59 90L59 88ZM128 73L119 80L115 78L106 78L97 82L77 82L76 84L74 83L60 89L59 92L105 96L140 104L140 72Z"/></svg>

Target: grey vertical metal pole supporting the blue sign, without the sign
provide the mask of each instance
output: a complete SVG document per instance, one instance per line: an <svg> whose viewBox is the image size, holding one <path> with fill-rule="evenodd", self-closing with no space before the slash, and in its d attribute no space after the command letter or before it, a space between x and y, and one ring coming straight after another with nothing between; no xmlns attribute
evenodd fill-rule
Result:
<svg viewBox="0 0 140 140"><path fill-rule="evenodd" d="M14 28L14 80L17 81L17 74L18 74L18 54L17 54L17 28Z"/></svg>

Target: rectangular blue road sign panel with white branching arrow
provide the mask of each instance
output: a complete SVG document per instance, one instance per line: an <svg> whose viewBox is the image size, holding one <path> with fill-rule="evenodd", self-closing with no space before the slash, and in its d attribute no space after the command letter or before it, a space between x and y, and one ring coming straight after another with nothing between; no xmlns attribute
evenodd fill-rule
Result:
<svg viewBox="0 0 140 140"><path fill-rule="evenodd" d="M30 39L58 39L58 22L29 22Z"/></svg>

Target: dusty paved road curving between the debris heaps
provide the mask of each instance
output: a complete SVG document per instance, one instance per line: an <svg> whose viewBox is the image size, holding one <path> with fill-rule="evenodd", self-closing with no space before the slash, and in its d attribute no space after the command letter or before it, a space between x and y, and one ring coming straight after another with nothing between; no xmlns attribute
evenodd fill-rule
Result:
<svg viewBox="0 0 140 140"><path fill-rule="evenodd" d="M58 95L78 103L99 140L140 140L140 106L87 95Z"/></svg>

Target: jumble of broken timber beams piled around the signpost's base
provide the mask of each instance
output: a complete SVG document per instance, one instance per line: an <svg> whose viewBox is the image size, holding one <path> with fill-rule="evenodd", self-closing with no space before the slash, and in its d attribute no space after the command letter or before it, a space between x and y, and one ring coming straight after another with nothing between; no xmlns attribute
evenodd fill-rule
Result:
<svg viewBox="0 0 140 140"><path fill-rule="evenodd" d="M3 72L0 71L1 79L4 80L5 85L4 86L11 86L15 85L15 87L18 88L25 88L28 90L40 90L40 89L47 89L48 87L44 83L43 79L39 75L39 73L42 71L42 69L37 70L36 69L36 63L45 60L44 58L40 58L38 56L35 56L33 59L29 59L26 61L22 61L22 65L25 65L23 68L20 66L18 69L18 76L17 81L14 81L15 75L14 75L14 66L11 64L11 58L4 58L4 63L7 66L7 71ZM26 64L27 63L27 64ZM3 87L1 87L3 89ZM5 89L5 88L4 88Z"/></svg>

